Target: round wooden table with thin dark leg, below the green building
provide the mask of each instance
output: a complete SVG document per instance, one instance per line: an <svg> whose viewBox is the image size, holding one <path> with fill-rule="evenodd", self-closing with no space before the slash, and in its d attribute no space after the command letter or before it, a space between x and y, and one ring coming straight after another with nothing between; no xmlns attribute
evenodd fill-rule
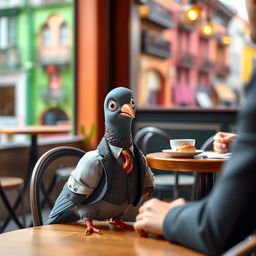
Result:
<svg viewBox="0 0 256 256"><path fill-rule="evenodd" d="M0 133L2 134L31 135L30 150L29 150L29 164L28 164L28 168L24 178L24 187L13 205L14 211L18 208L19 204L21 203L22 197L25 194L25 191L29 185L30 177L31 177L34 165L38 158L38 144L37 144L38 135L68 133L70 131L71 131L71 126L69 125L31 125L31 126L0 128ZM3 224L3 229L7 226L9 221L10 221L10 218L7 218L7 220Z"/></svg>

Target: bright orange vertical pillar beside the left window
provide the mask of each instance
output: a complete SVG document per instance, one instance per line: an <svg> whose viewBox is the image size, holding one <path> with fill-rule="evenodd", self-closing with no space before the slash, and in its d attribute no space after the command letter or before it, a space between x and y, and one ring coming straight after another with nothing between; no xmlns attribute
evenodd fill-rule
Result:
<svg viewBox="0 0 256 256"><path fill-rule="evenodd" d="M77 1L77 129L84 126L88 134L96 124L91 148L95 148L104 131L103 101L106 93L107 49L106 1Z"/></svg>

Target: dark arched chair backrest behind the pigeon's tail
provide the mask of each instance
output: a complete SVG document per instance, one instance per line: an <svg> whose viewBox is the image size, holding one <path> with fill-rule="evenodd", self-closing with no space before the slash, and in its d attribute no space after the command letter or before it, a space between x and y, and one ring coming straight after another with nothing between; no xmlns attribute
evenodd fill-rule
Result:
<svg viewBox="0 0 256 256"><path fill-rule="evenodd" d="M85 154L81 149L61 146L45 152L37 161L31 176L30 182L30 206L34 226L43 225L40 192L43 183L43 176L47 168L57 159L63 157L75 157L78 160Z"/></svg>

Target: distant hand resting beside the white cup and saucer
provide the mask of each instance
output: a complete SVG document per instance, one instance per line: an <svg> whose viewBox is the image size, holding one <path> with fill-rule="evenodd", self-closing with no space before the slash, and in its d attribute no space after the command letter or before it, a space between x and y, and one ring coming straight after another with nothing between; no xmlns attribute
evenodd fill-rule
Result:
<svg viewBox="0 0 256 256"><path fill-rule="evenodd" d="M216 153L225 154L230 150L232 142L237 138L237 134L218 132L214 136L213 149Z"/></svg>

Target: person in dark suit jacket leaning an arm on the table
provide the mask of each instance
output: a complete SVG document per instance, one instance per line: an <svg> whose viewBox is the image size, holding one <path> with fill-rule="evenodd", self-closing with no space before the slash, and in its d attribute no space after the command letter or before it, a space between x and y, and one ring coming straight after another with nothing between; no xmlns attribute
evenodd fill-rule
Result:
<svg viewBox="0 0 256 256"><path fill-rule="evenodd" d="M256 0L247 0L251 38L256 43ZM256 228L256 84L239 113L238 134L218 182L200 201L145 202L134 224L140 235L154 233L200 251L220 255Z"/></svg>

